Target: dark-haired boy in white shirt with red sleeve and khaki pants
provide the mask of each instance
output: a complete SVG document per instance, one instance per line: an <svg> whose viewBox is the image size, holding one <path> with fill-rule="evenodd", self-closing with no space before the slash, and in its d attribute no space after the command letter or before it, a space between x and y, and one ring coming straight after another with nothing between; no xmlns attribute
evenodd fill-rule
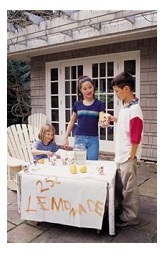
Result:
<svg viewBox="0 0 165 256"><path fill-rule="evenodd" d="M120 209L117 226L139 224L140 197L137 185L137 160L141 154L143 115L138 98L133 94L135 82L131 74L122 72L112 80L116 96L122 101L119 116L109 116L116 124L116 200Z"/></svg>

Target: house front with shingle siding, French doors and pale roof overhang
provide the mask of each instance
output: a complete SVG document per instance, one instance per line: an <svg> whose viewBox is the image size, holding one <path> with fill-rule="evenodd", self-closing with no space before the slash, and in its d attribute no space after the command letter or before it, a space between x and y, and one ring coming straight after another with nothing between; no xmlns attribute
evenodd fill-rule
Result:
<svg viewBox="0 0 165 256"><path fill-rule="evenodd" d="M42 112L63 137L77 99L77 81L89 75L96 97L117 115L119 100L110 86L130 72L144 115L142 159L157 160L157 12L63 11L50 20L29 16L33 24L8 28L8 58L30 61L32 113ZM88 125L88 124L87 124ZM74 131L70 136L73 145ZM115 125L99 129L100 150L114 153ZM122 138L121 138L122 140Z"/></svg>

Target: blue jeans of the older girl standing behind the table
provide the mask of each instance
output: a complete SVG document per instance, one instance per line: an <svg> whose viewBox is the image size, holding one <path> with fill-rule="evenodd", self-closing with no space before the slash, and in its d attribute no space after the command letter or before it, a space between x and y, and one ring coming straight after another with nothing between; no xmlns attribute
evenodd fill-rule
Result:
<svg viewBox="0 0 165 256"><path fill-rule="evenodd" d="M99 137L75 135L74 144L84 144L87 149L87 160L98 160Z"/></svg>

